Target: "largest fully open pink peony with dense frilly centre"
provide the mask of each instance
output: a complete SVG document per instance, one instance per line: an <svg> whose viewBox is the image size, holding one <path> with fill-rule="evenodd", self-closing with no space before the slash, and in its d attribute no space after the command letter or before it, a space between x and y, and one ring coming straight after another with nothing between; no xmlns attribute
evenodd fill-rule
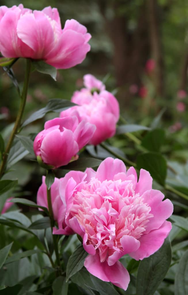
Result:
<svg viewBox="0 0 188 295"><path fill-rule="evenodd" d="M166 221L173 205L152 189L152 178L119 159L107 158L97 172L70 171L60 184L67 207L65 223L83 239L89 253L84 266L103 281L127 289L130 277L118 261L125 254L139 260L155 253L171 230Z"/></svg>

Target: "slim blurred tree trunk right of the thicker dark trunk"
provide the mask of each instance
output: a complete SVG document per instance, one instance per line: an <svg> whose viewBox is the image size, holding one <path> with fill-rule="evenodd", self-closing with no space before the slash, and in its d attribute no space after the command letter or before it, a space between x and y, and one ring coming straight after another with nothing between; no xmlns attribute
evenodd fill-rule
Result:
<svg viewBox="0 0 188 295"><path fill-rule="evenodd" d="M160 14L157 0L148 0L151 55L155 60L154 83L156 94L164 96L164 60L161 44Z"/></svg>

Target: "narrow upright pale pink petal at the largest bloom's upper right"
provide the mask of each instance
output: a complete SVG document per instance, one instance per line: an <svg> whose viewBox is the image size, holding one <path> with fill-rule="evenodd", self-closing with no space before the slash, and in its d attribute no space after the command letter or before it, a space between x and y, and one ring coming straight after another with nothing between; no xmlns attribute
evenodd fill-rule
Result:
<svg viewBox="0 0 188 295"><path fill-rule="evenodd" d="M140 177L135 189L135 194L139 193L141 196L145 191L152 189L152 180L153 179L150 173L144 169L141 169Z"/></svg>

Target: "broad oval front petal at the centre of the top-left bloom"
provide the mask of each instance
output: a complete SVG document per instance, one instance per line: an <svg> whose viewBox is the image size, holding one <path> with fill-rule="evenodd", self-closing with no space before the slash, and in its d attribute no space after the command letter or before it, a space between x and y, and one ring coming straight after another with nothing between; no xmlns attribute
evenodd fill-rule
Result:
<svg viewBox="0 0 188 295"><path fill-rule="evenodd" d="M34 51L32 58L44 59L52 49L54 31L44 12L34 10L24 14L18 21L18 37Z"/></svg>

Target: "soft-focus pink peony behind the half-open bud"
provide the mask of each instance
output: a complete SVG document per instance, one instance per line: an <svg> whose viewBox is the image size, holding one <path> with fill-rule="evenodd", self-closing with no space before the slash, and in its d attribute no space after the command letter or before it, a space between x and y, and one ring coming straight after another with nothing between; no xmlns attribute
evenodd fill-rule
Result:
<svg viewBox="0 0 188 295"><path fill-rule="evenodd" d="M95 124L96 131L89 143L98 145L115 134L116 123L119 119L119 104L113 94L106 91L103 83L94 76L85 75L84 84L87 88L76 91L71 99L79 106L73 106L61 112L60 117L75 114Z"/></svg>

